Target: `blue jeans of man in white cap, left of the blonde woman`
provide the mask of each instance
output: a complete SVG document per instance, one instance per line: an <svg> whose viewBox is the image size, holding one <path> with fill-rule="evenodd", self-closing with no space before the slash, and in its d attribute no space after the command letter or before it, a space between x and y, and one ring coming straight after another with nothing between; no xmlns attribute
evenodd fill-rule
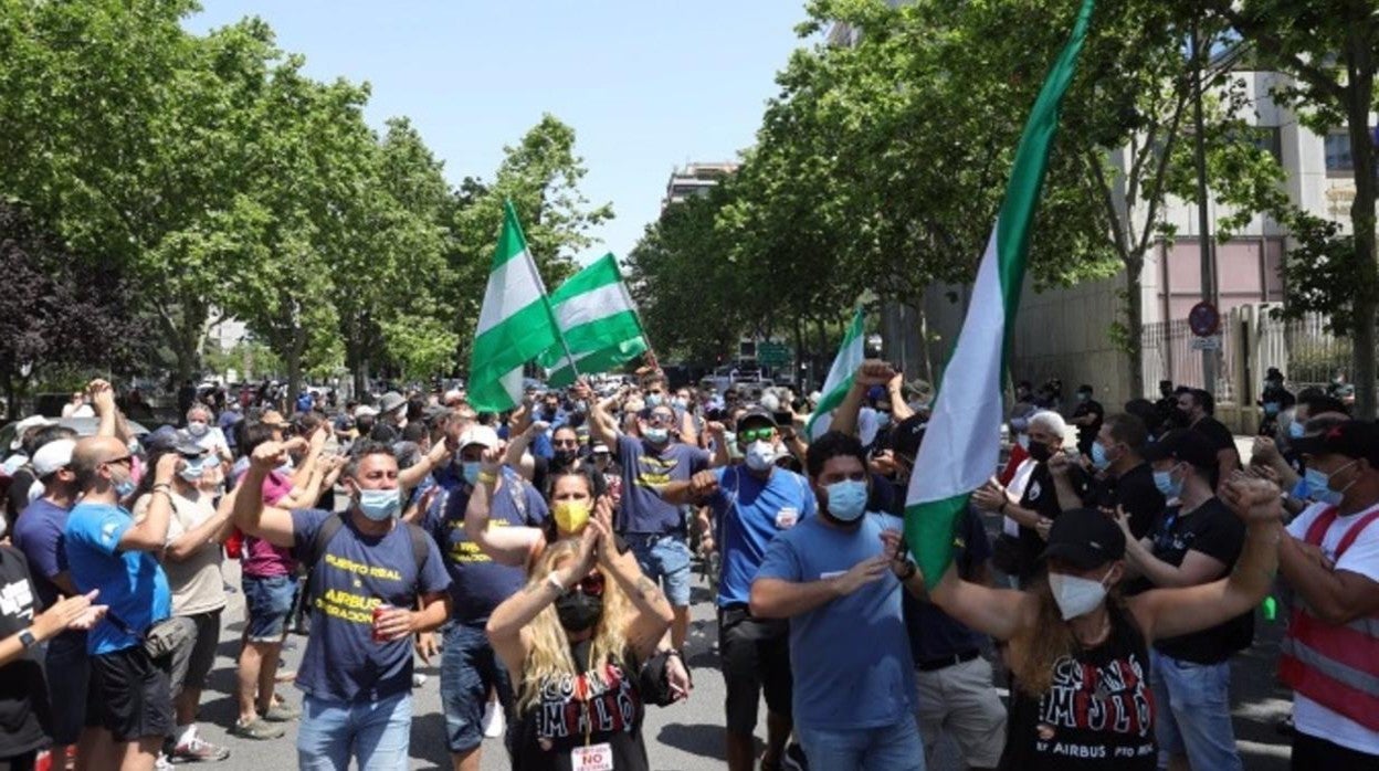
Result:
<svg viewBox="0 0 1379 771"><path fill-rule="evenodd" d="M450 752L465 753L484 743L483 720L490 688L498 691L507 724L516 724L507 668L494 652L484 628L451 623L445 628L440 655L440 705L445 712Z"/></svg>

